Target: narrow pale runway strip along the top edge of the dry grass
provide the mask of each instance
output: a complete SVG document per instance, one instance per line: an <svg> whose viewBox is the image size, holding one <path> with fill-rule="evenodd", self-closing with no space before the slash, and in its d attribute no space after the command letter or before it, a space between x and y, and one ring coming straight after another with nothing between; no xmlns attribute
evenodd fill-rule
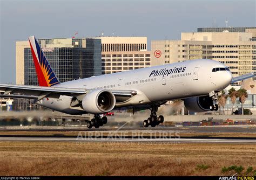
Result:
<svg viewBox="0 0 256 180"><path fill-rule="evenodd" d="M116 137L0 137L0 141L50 141L50 142L143 142L143 143L256 143L255 138L116 138Z"/></svg>

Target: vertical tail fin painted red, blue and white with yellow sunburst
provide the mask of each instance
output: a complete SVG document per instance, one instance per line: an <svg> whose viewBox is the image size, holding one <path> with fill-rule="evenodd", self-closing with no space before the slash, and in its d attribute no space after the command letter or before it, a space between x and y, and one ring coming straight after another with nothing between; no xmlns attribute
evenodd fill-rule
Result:
<svg viewBox="0 0 256 180"><path fill-rule="evenodd" d="M39 46L35 36L29 37L29 44L36 68L39 86L50 87L59 84L60 82L55 72L53 72L48 60L44 56L44 53Z"/></svg>

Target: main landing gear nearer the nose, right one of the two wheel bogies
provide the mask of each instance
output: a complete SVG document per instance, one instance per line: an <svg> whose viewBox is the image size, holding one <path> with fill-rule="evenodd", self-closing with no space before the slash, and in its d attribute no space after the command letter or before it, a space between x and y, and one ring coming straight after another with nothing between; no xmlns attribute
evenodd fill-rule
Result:
<svg viewBox="0 0 256 180"><path fill-rule="evenodd" d="M151 109L150 109L151 110L150 117L147 118L147 120L143 121L143 126L145 128L149 127L149 125L151 127L156 127L160 123L164 122L164 116L160 115L160 116L157 117L158 107L160 107L160 106L152 106L151 107Z"/></svg>

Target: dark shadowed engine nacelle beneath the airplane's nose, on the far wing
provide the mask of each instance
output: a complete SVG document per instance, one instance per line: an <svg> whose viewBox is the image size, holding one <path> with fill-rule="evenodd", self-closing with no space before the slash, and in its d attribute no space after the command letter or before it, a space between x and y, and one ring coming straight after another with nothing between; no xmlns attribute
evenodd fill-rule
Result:
<svg viewBox="0 0 256 180"><path fill-rule="evenodd" d="M184 99L184 105L187 110L191 112L206 112L210 110L210 106L213 103L213 100L210 96L199 96L193 98Z"/></svg>

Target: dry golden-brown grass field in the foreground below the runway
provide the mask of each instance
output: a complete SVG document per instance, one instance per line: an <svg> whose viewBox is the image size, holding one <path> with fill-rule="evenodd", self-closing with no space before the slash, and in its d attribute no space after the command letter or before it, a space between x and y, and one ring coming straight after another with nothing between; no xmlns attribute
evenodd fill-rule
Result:
<svg viewBox="0 0 256 180"><path fill-rule="evenodd" d="M255 144L0 142L1 176L233 175L256 169ZM250 174L252 175L252 174Z"/></svg>

